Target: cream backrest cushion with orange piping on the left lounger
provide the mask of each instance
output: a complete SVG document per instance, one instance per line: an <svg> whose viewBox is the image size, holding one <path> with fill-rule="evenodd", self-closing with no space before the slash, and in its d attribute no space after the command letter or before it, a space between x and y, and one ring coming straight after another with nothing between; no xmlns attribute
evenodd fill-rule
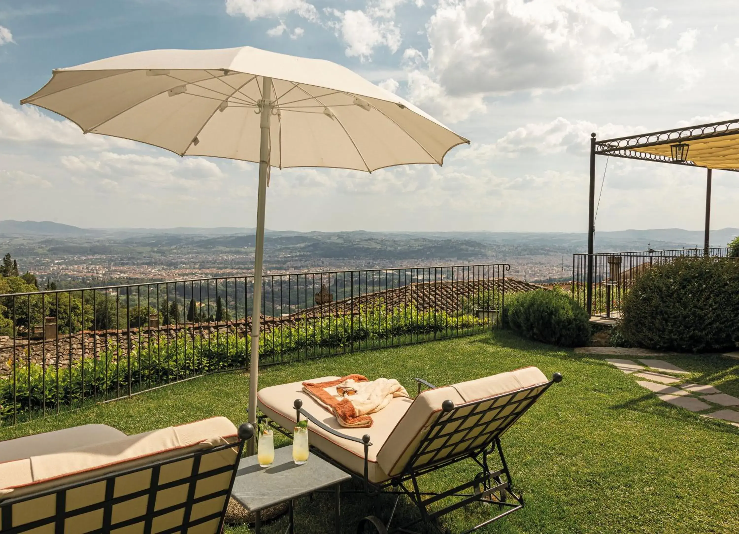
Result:
<svg viewBox="0 0 739 534"><path fill-rule="evenodd" d="M78 427L85 429L87 425ZM74 431L76 428L69 428ZM55 433L50 433L55 434ZM123 434L123 433L121 433ZM109 433L110 436L114 435ZM44 434L34 436L43 437ZM126 436L103 443L95 443L73 450L52 452L35 456L27 456L0 463L0 498L18 497L27 493L35 493L52 487L81 482L117 470L146 465L154 460L180 456L190 450L221 445L236 441L236 427L225 417L192 422L188 425L163 428L135 436ZM15 441L15 440L14 440ZM154 458L156 456L156 458ZM211 458L211 456L213 456ZM200 471L213 469L217 465L226 465L228 456L233 456L231 449L203 456ZM192 465L192 459L186 460ZM233 464L233 459L230 459ZM170 474L162 476L174 477L177 480L189 476L190 471L184 465L175 468L182 462L172 464ZM133 476L133 475L132 475ZM225 473L225 477L231 476ZM133 481L132 481L133 482ZM149 481L138 481L136 484ZM228 486L228 485L227 485ZM118 485L116 485L118 488ZM1 490L13 489L12 493ZM118 489L117 489L118 491Z"/></svg>

